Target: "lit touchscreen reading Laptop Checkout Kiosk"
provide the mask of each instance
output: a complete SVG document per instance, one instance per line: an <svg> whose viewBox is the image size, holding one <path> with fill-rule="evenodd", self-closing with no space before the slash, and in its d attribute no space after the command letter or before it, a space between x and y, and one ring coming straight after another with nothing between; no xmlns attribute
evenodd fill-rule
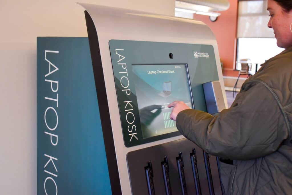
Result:
<svg viewBox="0 0 292 195"><path fill-rule="evenodd" d="M178 131L169 118L173 101L193 108L187 65L132 65L143 139Z"/></svg>

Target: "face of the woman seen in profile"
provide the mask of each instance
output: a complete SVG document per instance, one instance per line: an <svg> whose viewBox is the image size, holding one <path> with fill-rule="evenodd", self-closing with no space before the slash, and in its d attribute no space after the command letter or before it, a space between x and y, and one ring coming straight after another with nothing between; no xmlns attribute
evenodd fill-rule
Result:
<svg viewBox="0 0 292 195"><path fill-rule="evenodd" d="M268 27L274 29L278 47L288 48L292 46L292 10L286 12L276 1L268 0L267 10L270 12Z"/></svg>

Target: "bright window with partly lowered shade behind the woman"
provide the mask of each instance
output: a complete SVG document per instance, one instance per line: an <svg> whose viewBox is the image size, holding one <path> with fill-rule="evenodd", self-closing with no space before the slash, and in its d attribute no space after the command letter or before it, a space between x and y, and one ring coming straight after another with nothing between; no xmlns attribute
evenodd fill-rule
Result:
<svg viewBox="0 0 292 195"><path fill-rule="evenodd" d="M236 69L241 69L241 59L250 59L252 72L265 60L283 51L277 46L273 29L267 27L269 21L267 0L239 1L237 23ZM257 38L256 38L257 37Z"/></svg>

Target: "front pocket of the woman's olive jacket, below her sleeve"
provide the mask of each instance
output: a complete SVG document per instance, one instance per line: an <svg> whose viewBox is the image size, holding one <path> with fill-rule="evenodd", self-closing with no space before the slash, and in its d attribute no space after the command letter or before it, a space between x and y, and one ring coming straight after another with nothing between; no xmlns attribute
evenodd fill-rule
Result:
<svg viewBox="0 0 292 195"><path fill-rule="evenodd" d="M223 163L219 160L220 177L225 195L232 194L234 176L236 172L236 165Z"/></svg>

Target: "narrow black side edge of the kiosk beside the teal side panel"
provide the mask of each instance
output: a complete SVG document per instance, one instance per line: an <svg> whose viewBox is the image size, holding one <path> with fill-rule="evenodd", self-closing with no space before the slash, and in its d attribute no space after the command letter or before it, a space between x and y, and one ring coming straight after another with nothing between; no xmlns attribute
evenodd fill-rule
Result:
<svg viewBox="0 0 292 195"><path fill-rule="evenodd" d="M93 20L87 11L85 11L85 20L112 194L122 194L97 32Z"/></svg>

